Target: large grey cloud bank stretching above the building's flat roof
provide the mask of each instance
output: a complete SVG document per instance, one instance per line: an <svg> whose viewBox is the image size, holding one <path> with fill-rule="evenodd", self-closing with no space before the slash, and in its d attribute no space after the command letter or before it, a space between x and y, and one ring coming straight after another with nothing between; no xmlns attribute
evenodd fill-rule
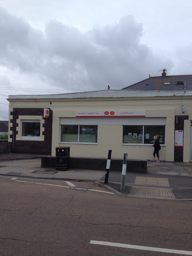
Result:
<svg viewBox="0 0 192 256"><path fill-rule="evenodd" d="M86 33L51 20L42 32L0 8L0 30L1 65L63 89L118 89L173 65L140 43L142 25L131 16Z"/></svg>

